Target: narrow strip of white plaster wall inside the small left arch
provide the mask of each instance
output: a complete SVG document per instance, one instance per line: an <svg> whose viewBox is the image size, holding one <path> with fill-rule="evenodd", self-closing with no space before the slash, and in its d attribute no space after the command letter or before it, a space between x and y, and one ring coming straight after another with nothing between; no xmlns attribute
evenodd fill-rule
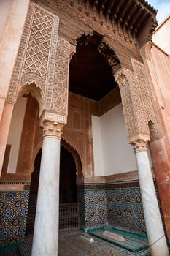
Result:
<svg viewBox="0 0 170 256"><path fill-rule="evenodd" d="M25 97L20 97L15 104L12 113L12 121L7 140L7 144L12 145L7 173L16 173L18 153L20 149L20 138L23 130L23 119L26 111L26 101L27 99Z"/></svg>

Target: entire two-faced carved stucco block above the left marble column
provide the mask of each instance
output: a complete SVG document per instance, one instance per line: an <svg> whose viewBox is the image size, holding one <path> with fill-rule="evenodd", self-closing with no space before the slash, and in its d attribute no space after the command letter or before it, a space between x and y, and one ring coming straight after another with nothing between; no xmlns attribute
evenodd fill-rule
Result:
<svg viewBox="0 0 170 256"><path fill-rule="evenodd" d="M39 102L40 115L46 110L67 116L70 45L58 37L58 26L58 16L30 3L7 102L13 104L20 95L31 93Z"/></svg>

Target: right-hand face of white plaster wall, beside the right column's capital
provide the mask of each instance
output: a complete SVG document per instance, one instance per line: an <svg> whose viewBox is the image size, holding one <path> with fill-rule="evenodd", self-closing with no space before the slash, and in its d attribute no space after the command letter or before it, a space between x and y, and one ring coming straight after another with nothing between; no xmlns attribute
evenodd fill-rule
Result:
<svg viewBox="0 0 170 256"><path fill-rule="evenodd" d="M105 175L137 170L134 150L126 137L121 104L101 116L101 135Z"/></svg>

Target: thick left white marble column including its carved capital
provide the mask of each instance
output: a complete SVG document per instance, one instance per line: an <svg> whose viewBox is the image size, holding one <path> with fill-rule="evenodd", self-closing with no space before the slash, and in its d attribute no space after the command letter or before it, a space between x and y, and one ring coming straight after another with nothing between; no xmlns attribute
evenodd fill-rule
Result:
<svg viewBox="0 0 170 256"><path fill-rule="evenodd" d="M63 124L45 121L32 256L58 255L59 164Z"/></svg>

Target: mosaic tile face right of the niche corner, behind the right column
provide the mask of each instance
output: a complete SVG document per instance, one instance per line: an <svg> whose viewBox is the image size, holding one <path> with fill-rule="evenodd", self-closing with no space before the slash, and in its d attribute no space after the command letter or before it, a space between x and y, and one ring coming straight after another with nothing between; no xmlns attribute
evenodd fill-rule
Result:
<svg viewBox="0 0 170 256"><path fill-rule="evenodd" d="M146 234L139 188L107 189L109 225Z"/></svg>

